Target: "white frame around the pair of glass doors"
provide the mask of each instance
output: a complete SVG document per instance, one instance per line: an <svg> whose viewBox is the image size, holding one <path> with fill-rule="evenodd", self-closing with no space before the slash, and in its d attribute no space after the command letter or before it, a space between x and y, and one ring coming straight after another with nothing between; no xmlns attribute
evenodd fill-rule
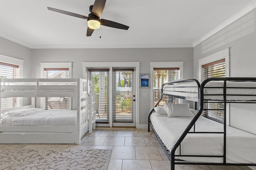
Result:
<svg viewBox="0 0 256 170"><path fill-rule="evenodd" d="M136 127L139 126L140 124L140 104L139 104L139 95L140 95L140 86L139 83L140 82L140 62L82 62L82 66L83 66L83 78L84 79L88 79L88 68L109 68L109 104L110 104L110 112L109 112L109 124L97 124L98 126L106 126L109 125L110 127L113 126L113 120L112 120L112 116L113 116L113 107L112 107L112 87L113 87L113 67L133 67L136 68L136 72L135 72L135 81L136 81L136 85L135 85L135 100L136 100L136 107L135 107L135 122L136 122Z"/></svg>

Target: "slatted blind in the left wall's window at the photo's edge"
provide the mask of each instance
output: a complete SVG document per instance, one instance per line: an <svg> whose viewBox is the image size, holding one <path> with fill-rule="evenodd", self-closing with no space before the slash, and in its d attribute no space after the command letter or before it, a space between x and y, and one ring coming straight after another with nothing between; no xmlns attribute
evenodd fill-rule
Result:
<svg viewBox="0 0 256 170"><path fill-rule="evenodd" d="M0 62L0 78L20 78L18 65ZM1 98L1 109L19 107L20 98Z"/></svg>

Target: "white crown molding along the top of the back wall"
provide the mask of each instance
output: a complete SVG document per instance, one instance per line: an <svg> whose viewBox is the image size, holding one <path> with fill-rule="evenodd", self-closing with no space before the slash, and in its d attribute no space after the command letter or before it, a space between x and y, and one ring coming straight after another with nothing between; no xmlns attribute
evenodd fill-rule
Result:
<svg viewBox="0 0 256 170"><path fill-rule="evenodd" d="M31 49L184 48L192 44L31 45Z"/></svg>

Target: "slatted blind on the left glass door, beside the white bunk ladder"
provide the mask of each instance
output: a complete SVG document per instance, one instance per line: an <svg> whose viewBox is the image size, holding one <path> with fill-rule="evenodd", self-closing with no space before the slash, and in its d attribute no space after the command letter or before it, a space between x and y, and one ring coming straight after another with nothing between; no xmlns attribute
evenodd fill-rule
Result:
<svg viewBox="0 0 256 170"><path fill-rule="evenodd" d="M109 122L109 69L88 69L94 82L96 123Z"/></svg>

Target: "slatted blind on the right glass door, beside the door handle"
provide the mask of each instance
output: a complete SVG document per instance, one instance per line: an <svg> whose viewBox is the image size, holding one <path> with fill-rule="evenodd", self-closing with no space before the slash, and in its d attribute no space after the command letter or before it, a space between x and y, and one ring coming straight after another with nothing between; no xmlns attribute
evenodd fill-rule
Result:
<svg viewBox="0 0 256 170"><path fill-rule="evenodd" d="M113 122L134 122L134 68L113 69Z"/></svg>

